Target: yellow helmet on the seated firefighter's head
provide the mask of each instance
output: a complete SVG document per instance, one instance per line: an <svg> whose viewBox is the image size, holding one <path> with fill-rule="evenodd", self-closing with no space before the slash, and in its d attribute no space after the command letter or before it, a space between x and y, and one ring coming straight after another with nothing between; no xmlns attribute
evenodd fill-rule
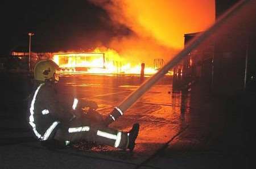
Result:
<svg viewBox="0 0 256 169"><path fill-rule="evenodd" d="M52 60L40 60L34 67L34 79L36 81L54 81L55 72L59 66Z"/></svg>

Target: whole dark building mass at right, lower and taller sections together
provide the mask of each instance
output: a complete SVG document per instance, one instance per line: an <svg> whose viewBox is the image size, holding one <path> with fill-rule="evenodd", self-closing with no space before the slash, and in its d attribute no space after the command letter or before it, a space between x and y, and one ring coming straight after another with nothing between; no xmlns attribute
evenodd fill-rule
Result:
<svg viewBox="0 0 256 169"><path fill-rule="evenodd" d="M237 1L216 1L220 18ZM174 68L174 87L201 82L216 94L237 94L255 85L255 2L249 2L224 23L206 43L193 50ZM185 46L199 35L184 35Z"/></svg>

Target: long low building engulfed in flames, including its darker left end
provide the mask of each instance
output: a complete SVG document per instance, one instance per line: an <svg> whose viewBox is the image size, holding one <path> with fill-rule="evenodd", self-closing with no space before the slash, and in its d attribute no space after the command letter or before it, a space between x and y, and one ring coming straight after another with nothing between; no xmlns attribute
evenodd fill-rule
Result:
<svg viewBox="0 0 256 169"><path fill-rule="evenodd" d="M28 69L28 53L27 52L11 52L13 58L18 58L20 62L24 62L22 69ZM142 63L133 63L125 60L112 49L101 52L96 48L93 52L31 52L31 69L35 63L42 59L51 59L59 65L58 73L61 74L141 74ZM145 75L156 73L163 66L163 60L156 62L152 60L155 66L143 67ZM170 72L171 75L171 72Z"/></svg>

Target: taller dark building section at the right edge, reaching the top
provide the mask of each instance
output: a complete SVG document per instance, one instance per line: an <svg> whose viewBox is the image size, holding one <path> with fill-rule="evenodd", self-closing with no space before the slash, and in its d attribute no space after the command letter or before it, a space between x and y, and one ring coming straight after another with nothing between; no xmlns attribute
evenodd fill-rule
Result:
<svg viewBox="0 0 256 169"><path fill-rule="evenodd" d="M238 1L216 1L218 19ZM220 94L253 90L255 83L255 1L234 15L218 30L214 43L212 89Z"/></svg>

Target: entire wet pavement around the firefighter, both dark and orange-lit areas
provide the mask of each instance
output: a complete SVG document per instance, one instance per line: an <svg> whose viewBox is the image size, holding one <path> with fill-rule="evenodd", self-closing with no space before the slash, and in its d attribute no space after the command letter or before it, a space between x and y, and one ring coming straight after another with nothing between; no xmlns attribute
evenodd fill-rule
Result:
<svg viewBox="0 0 256 169"><path fill-rule="evenodd" d="M1 82L0 168L249 168L254 96L214 96L199 84L175 91L164 77L110 125L128 131L139 122L133 153L83 143L49 150L26 121L30 81L3 74ZM105 116L140 84L129 75L69 75L58 85L63 95L94 100Z"/></svg>

